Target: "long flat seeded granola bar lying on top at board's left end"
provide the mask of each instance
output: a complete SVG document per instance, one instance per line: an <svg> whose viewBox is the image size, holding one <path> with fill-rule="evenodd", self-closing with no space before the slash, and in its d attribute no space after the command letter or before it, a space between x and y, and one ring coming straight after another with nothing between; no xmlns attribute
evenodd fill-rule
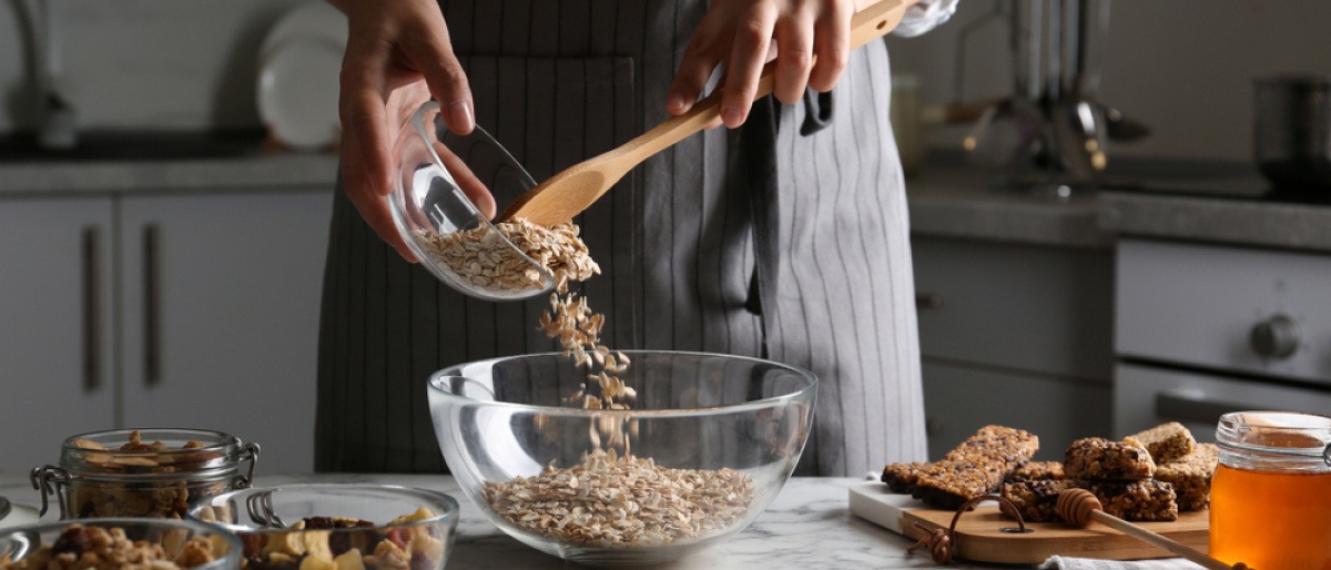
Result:
<svg viewBox="0 0 1331 570"><path fill-rule="evenodd" d="M985 426L926 467L912 495L926 503L956 509L961 503L998 490L1004 477L1029 461L1040 449L1030 431Z"/></svg>

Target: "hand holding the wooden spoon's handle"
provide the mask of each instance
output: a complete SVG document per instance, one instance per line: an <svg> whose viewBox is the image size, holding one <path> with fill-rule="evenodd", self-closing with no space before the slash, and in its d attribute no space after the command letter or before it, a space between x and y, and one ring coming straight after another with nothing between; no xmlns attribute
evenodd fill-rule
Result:
<svg viewBox="0 0 1331 570"><path fill-rule="evenodd" d="M666 111L683 115L717 65L721 121L735 128L748 117L763 65L776 59L772 93L796 103L805 85L831 91L851 56L851 16L866 0L715 0L684 49ZM775 44L773 44L775 43Z"/></svg>

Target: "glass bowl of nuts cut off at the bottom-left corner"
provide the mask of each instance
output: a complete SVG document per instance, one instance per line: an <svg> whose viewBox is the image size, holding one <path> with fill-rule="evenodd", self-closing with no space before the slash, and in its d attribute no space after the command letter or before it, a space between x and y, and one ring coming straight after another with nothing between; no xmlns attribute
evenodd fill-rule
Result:
<svg viewBox="0 0 1331 570"><path fill-rule="evenodd" d="M3 570L238 570L241 542L196 521L87 518L0 533Z"/></svg>

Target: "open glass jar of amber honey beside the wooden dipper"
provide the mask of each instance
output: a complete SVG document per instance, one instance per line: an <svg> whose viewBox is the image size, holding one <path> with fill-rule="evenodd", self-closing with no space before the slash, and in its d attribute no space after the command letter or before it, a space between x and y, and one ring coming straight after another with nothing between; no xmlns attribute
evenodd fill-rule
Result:
<svg viewBox="0 0 1331 570"><path fill-rule="evenodd" d="M1215 429L1210 555L1260 570L1331 570L1331 417L1235 412Z"/></svg>

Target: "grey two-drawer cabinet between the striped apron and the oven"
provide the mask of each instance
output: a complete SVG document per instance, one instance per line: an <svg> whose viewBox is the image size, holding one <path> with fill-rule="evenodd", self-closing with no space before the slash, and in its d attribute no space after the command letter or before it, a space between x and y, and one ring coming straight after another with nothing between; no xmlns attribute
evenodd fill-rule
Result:
<svg viewBox="0 0 1331 570"><path fill-rule="evenodd" d="M914 236L929 457L988 424L1110 435L1113 250Z"/></svg>

